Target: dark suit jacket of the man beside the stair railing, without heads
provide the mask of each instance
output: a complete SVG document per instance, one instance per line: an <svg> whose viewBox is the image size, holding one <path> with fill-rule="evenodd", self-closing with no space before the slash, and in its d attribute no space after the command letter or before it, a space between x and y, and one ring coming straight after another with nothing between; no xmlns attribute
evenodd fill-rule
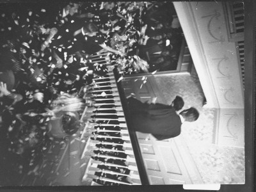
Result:
<svg viewBox="0 0 256 192"><path fill-rule="evenodd" d="M135 131L151 133L158 140L180 134L182 122L172 106L142 103L132 97L128 104Z"/></svg>

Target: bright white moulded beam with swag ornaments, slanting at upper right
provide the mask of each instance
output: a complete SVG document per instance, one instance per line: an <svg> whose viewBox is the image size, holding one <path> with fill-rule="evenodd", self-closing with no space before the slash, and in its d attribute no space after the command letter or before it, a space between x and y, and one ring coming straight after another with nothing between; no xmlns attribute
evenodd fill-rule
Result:
<svg viewBox="0 0 256 192"><path fill-rule="evenodd" d="M228 42L221 2L173 2L211 108L244 108L235 42Z"/></svg>

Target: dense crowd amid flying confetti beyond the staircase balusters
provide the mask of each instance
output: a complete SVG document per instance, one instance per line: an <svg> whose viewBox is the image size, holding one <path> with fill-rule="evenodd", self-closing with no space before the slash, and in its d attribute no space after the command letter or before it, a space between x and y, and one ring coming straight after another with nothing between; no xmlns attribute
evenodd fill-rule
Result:
<svg viewBox="0 0 256 192"><path fill-rule="evenodd" d="M108 72L92 54L109 51L126 74L177 65L182 33L172 27L172 3L38 1L0 10L1 138L14 154L42 150L49 121L81 109L80 88Z"/></svg>

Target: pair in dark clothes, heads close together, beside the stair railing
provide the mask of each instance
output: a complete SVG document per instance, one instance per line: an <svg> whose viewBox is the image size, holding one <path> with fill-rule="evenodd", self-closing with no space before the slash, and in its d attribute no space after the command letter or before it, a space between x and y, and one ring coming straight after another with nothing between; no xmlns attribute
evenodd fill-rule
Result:
<svg viewBox="0 0 256 192"><path fill-rule="evenodd" d="M194 122L199 117L195 108L177 112L184 106L181 97L176 97L171 105L143 103L133 97L127 101L134 131L150 133L157 140L179 136L182 123Z"/></svg>

